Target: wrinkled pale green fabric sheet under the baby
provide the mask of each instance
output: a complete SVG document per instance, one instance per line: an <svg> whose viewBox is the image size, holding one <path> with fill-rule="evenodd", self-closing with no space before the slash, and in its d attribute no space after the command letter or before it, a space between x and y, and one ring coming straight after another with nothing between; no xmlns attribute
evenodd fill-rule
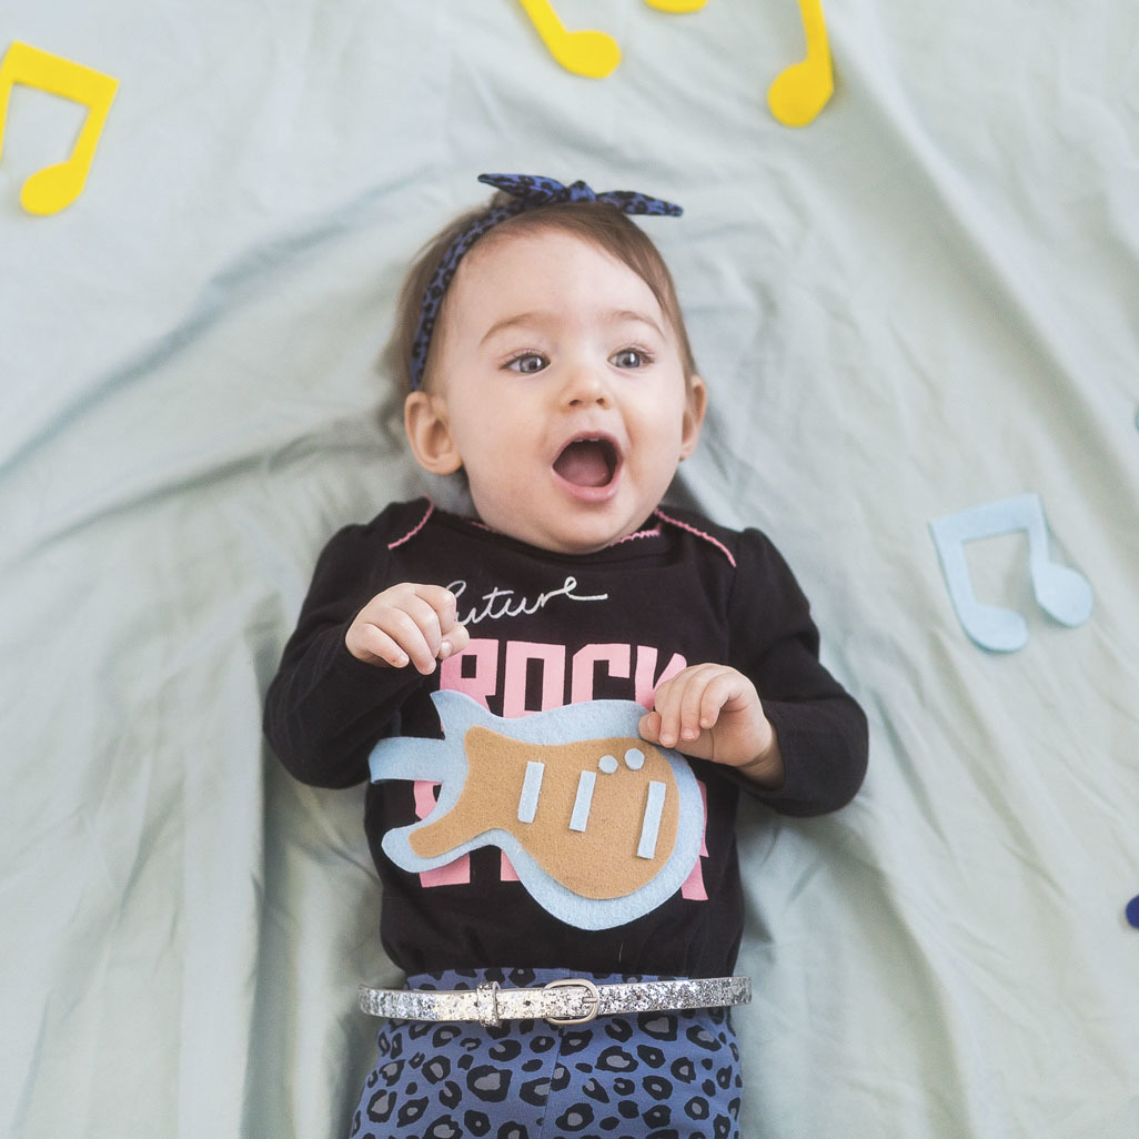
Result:
<svg viewBox="0 0 1139 1139"><path fill-rule="evenodd" d="M377 1025L363 788L296 786L264 688L318 551L429 492L378 363L486 170L645 188L710 410L673 498L769 533L870 715L834 817L739 823L746 1136L1134 1139L1139 1118L1139 6L6 0L120 81L81 196L19 205L83 108L19 84L0 155L0 1134L322 1139ZM931 519L1040 495L1027 540ZM662 614L667 621L669 614ZM524 934L522 934L524 936ZM620 1132L618 1132L620 1133Z"/></svg>

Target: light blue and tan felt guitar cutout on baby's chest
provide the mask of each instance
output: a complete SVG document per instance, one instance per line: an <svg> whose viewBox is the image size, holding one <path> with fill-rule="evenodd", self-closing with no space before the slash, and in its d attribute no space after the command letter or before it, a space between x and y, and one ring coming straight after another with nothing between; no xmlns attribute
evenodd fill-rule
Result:
<svg viewBox="0 0 1139 1139"><path fill-rule="evenodd" d="M461 693L432 695L444 738L380 740L372 781L440 782L435 809L383 849L423 874L497 846L550 913L581 929L623 925L683 885L700 852L703 798L688 761L637 731L631 700L505 720Z"/></svg>

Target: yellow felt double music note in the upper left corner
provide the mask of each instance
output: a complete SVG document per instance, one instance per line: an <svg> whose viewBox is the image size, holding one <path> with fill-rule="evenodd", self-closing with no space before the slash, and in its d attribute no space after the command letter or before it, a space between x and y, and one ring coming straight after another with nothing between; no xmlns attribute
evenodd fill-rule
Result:
<svg viewBox="0 0 1139 1139"><path fill-rule="evenodd" d="M28 213L58 213L83 192L103 124L118 90L118 80L27 43L14 42L3 63L0 63L0 147L8 120L8 99L16 83L39 88L87 107L87 118L71 156L32 174L19 194L19 203Z"/></svg>

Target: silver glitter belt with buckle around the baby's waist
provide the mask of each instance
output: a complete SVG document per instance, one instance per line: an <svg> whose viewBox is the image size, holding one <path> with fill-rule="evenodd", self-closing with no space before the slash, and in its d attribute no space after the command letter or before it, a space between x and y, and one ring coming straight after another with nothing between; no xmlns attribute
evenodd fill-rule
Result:
<svg viewBox="0 0 1139 1139"><path fill-rule="evenodd" d="M585 1024L614 1013L671 1013L721 1008L752 999L749 977L697 977L688 981L623 982L597 985L585 977L551 981L533 989L502 989L497 981L475 989L369 989L360 986L360 1008L396 1021L477 1021L497 1027L503 1021L542 1019Z"/></svg>

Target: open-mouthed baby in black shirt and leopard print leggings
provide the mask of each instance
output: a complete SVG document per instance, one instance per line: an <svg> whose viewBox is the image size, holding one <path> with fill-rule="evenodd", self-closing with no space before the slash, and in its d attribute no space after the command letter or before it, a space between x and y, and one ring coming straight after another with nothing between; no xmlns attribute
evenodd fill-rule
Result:
<svg viewBox="0 0 1139 1139"><path fill-rule="evenodd" d="M411 451L432 474L461 472L474 515L421 499L336 534L267 698L267 734L297 778L383 780L364 823L384 948L409 977L405 991L363 991L392 1019L352 1134L736 1136L727 1007L748 991L730 976L737 797L794 816L841 808L866 770L866 720L820 665L771 542L662 507L707 388L669 270L628 214L679 207L582 182L481 181L499 192L427 247L396 334ZM454 693L503 718L491 782L518 821L487 821L450 861L417 860L392 836L432 816L436 795L436 816L453 803L369 757L441 739ZM549 722L563 731L579 705L583 724L612 706L585 703L598 700L640 705L629 768L673 772L655 786L675 785L674 842L693 845L666 896L631 884L649 872L644 780L598 809L617 836L604 874L579 865L593 788L633 780L625 768L582 769L550 865L523 872L511 858L526 854L501 837L532 821L546 768L570 762L540 762L526 743L515 763L511 721L560 708Z"/></svg>

